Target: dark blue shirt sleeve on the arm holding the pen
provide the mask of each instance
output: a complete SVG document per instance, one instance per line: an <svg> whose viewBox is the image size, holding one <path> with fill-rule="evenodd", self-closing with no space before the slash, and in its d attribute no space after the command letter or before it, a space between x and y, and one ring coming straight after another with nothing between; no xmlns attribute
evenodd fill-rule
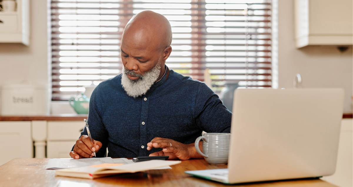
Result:
<svg viewBox="0 0 353 187"><path fill-rule="evenodd" d="M102 147L98 152L96 152L96 156L104 157L108 146L108 131L103 124L101 114L98 110L97 103L99 103L99 95L98 86L94 89L90 98L87 123L89 125L92 139L102 142ZM88 135L86 127L83 128L83 131L81 132L81 136L82 135Z"/></svg>

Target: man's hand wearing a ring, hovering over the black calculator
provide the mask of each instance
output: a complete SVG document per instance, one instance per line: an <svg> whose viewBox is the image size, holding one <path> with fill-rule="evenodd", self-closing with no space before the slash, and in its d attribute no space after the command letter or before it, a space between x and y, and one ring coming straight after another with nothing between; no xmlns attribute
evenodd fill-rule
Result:
<svg viewBox="0 0 353 187"><path fill-rule="evenodd" d="M170 143L169 143L170 142ZM170 144L172 147L170 147ZM202 144L200 150L202 150ZM196 152L195 143L182 144L172 139L156 137L147 144L147 150L152 148L163 148L162 151L151 153L149 156L169 156L168 159L188 160L190 158L203 158Z"/></svg>

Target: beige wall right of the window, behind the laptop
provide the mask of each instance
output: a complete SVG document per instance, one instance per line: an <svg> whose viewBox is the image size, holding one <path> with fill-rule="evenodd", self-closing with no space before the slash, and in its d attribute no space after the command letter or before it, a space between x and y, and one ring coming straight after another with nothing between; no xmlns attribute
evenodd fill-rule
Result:
<svg viewBox="0 0 353 187"><path fill-rule="evenodd" d="M295 47L294 0L278 0L278 87L292 88L295 74L304 88L344 88L344 112L352 112L353 49L336 46Z"/></svg>

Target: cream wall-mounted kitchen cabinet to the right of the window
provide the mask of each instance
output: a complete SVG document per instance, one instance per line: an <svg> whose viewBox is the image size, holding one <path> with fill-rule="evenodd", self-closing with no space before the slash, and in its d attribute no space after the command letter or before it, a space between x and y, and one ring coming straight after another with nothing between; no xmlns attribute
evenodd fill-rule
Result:
<svg viewBox="0 0 353 187"><path fill-rule="evenodd" d="M352 0L295 0L297 48L353 44Z"/></svg>

